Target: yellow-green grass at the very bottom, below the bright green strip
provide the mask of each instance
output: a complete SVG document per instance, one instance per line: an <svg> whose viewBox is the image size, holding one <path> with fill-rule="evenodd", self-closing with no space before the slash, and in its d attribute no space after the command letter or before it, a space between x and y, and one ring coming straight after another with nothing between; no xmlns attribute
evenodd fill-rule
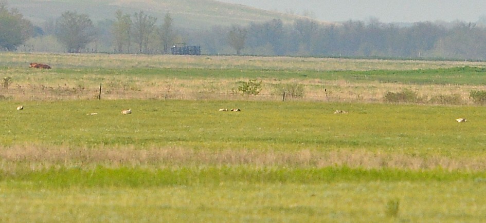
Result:
<svg viewBox="0 0 486 223"><path fill-rule="evenodd" d="M39 189L0 184L2 221L480 222L483 183L337 182ZM387 202L400 199L396 217Z"/></svg>

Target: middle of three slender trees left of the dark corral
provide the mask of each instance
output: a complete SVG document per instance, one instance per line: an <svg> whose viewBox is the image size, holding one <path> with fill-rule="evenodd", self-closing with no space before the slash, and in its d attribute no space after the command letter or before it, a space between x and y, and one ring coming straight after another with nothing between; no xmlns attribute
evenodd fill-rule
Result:
<svg viewBox="0 0 486 223"><path fill-rule="evenodd" d="M136 12L133 17L133 36L135 43L138 45L138 52L147 52L149 37L155 30L155 22L157 21L157 18L145 14L143 11Z"/></svg>

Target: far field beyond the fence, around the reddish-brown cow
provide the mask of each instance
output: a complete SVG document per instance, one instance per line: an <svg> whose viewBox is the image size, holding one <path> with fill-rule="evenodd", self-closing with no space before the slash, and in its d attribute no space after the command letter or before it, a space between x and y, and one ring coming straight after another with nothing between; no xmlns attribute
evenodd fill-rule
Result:
<svg viewBox="0 0 486 223"><path fill-rule="evenodd" d="M54 69L28 68L29 62ZM409 89L422 103L453 97L450 104L474 105L470 92L485 90L484 62L298 57L231 57L108 54L0 54L0 78L14 100L105 99L281 100L282 86L299 87L289 100L383 102L387 92ZM2 80L0 79L0 80ZM261 81L256 97L238 91ZM3 85L5 85L5 81ZM287 91L289 91L287 89Z"/></svg>

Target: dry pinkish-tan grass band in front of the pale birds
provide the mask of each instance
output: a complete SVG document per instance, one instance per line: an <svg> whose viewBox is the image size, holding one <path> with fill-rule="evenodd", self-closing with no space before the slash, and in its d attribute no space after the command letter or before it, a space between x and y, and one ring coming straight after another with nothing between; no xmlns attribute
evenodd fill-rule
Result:
<svg viewBox="0 0 486 223"><path fill-rule="evenodd" d="M52 167L92 168L146 167L177 168L204 166L253 166L324 168L348 166L352 168L448 171L485 171L486 157L420 157L400 153L380 153L367 150L299 151L225 149L194 150L185 148L69 148L43 146L10 146L0 148L0 169L15 171L28 166L31 170Z"/></svg>

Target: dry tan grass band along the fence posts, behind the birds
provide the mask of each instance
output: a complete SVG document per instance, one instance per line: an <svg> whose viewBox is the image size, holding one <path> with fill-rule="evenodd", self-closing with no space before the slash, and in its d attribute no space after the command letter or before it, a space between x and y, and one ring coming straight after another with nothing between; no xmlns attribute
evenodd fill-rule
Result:
<svg viewBox="0 0 486 223"><path fill-rule="evenodd" d="M240 79L143 79L134 78L129 82L118 80L121 85L107 83L102 85L101 97L103 99L219 99L219 100L281 100L282 95L276 91L278 84L303 85L302 97L289 98L302 101L322 102L383 102L388 92L399 92L410 89L417 92L418 97L426 103L430 98L438 95L459 95L463 105L472 105L474 102L469 94L473 90L486 90L484 86L471 85L413 85L401 83L353 83L347 80L321 80L321 79L289 79L274 80L271 78L259 79L262 81L262 91L257 96L242 95L238 91ZM88 83L52 83L46 85L13 85L8 89L0 88L0 96L15 100L58 100L58 99L95 99L98 98L99 84Z"/></svg>

